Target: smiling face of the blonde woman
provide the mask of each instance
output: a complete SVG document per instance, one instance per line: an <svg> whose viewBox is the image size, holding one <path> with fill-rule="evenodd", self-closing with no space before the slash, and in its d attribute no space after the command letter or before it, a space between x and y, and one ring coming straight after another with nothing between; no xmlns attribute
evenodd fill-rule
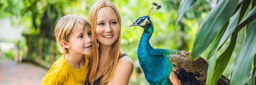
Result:
<svg viewBox="0 0 256 85"><path fill-rule="evenodd" d="M101 45L113 45L119 38L120 25L116 11L111 7L99 9L96 23L96 39Z"/></svg>

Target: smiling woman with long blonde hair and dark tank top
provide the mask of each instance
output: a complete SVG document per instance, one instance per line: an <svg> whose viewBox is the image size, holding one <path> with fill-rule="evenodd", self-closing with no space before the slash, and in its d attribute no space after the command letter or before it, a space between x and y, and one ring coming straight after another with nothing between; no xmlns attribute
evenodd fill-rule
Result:
<svg viewBox="0 0 256 85"><path fill-rule="evenodd" d="M94 41L87 85L128 85L133 62L121 50L121 18L110 0L99 0L90 8Z"/></svg>

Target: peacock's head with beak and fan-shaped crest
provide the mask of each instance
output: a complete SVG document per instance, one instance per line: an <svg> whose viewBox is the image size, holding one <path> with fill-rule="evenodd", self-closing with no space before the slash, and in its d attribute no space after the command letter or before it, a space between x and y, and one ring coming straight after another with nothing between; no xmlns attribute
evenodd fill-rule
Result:
<svg viewBox="0 0 256 85"><path fill-rule="evenodd" d="M129 27L131 26L141 26L141 27L149 27L151 26L152 22L150 20L150 17L162 6L158 5L158 3L152 3L151 9L148 13L148 16L143 16L138 18L134 23L132 23Z"/></svg>

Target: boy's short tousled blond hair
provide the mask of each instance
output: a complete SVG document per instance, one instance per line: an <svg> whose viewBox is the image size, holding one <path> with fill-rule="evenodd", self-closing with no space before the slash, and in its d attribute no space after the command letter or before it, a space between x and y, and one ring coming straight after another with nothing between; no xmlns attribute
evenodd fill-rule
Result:
<svg viewBox="0 0 256 85"><path fill-rule="evenodd" d="M89 26L91 28L88 20L75 14L67 14L57 21L54 29L54 34L56 41L61 46L61 48L58 49L61 53L68 53L68 49L64 48L63 45L61 45L61 40L64 40L68 43L72 31L75 30L75 28L77 28L79 24L82 25L82 27Z"/></svg>

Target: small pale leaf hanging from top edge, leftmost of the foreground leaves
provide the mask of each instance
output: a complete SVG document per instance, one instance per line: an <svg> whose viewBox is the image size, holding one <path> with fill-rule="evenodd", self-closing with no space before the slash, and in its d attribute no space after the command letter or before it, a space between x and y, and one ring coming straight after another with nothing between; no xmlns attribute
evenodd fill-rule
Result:
<svg viewBox="0 0 256 85"><path fill-rule="evenodd" d="M183 15L186 13L186 11L189 10L189 8L195 4L197 0L181 0L180 2L180 6L179 6L179 9L178 9L178 17L177 17L177 20L176 20L176 23L175 23L175 28L179 22L179 20L181 19L181 17L183 17Z"/></svg>

